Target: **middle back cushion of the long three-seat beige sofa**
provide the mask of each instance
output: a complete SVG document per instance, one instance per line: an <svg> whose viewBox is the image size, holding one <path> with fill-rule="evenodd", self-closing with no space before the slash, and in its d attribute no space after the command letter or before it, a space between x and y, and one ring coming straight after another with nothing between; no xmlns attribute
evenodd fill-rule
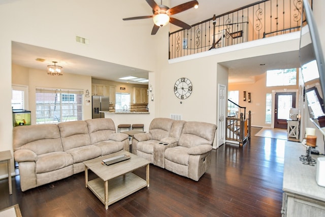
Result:
<svg viewBox="0 0 325 217"><path fill-rule="evenodd" d="M58 124L61 134L63 151L91 144L87 123L71 121Z"/></svg>

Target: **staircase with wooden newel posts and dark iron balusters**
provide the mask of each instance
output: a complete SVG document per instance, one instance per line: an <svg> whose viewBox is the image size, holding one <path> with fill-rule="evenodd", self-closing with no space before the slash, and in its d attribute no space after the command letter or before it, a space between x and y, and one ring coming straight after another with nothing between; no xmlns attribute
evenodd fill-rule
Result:
<svg viewBox="0 0 325 217"><path fill-rule="evenodd" d="M243 144L250 138L251 112L248 112L248 118L246 119L246 107L242 107L230 99L228 99L228 102L226 142L243 146Z"/></svg>

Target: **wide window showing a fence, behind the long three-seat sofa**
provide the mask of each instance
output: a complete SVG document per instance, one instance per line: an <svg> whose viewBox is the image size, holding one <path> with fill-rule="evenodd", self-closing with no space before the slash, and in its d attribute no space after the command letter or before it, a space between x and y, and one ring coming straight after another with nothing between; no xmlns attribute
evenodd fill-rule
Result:
<svg viewBox="0 0 325 217"><path fill-rule="evenodd" d="M36 123L82 120L82 90L36 89Z"/></svg>

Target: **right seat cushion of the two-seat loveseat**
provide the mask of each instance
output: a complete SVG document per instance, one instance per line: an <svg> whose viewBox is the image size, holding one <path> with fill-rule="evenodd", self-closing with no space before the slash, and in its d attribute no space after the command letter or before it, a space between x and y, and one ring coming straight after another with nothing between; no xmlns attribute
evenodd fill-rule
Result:
<svg viewBox="0 0 325 217"><path fill-rule="evenodd" d="M188 166L189 155L187 154L187 151L188 148L182 146L166 149L165 159Z"/></svg>

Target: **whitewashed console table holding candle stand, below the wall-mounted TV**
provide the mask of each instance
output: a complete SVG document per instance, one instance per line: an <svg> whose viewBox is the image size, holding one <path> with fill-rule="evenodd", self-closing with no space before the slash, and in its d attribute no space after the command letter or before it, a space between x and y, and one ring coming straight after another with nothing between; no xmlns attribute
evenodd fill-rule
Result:
<svg viewBox="0 0 325 217"><path fill-rule="evenodd" d="M285 142L282 216L325 216L325 188L316 183L316 165L300 161L305 154L301 143Z"/></svg>

